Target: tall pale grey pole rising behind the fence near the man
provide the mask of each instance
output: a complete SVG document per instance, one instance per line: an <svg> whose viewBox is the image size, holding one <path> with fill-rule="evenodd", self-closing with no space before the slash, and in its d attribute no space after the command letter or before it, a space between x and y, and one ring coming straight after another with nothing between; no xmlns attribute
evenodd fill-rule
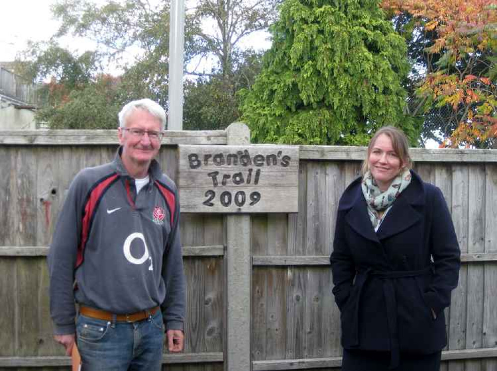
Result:
<svg viewBox="0 0 497 371"><path fill-rule="evenodd" d="M171 0L169 17L168 130L183 129L184 0Z"/></svg>

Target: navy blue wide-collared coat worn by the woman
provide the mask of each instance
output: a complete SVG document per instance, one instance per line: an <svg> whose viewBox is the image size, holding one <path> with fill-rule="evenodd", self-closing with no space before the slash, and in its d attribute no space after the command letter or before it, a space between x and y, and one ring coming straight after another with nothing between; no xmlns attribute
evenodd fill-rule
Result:
<svg viewBox="0 0 497 371"><path fill-rule="evenodd" d="M391 351L394 364L400 352L429 354L447 344L443 309L450 304L460 268L442 192L411 172L411 184L377 233L361 178L346 188L330 257L342 346Z"/></svg>

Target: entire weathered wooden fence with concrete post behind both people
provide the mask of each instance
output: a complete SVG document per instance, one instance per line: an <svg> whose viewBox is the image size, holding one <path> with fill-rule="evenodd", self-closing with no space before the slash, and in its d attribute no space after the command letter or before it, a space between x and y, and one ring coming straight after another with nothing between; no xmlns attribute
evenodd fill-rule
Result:
<svg viewBox="0 0 497 371"><path fill-rule="evenodd" d="M109 161L116 135L0 131L0 371L68 370L69 359L52 340L47 246L71 180ZM247 132L168 132L159 161L172 179L178 144L247 144ZM365 149L300 146L299 152L298 213L182 215L186 344L184 353L164 355L167 370L339 370L329 255L339 196ZM442 189L463 252L446 313L442 370L497 370L496 151L412 154L421 177Z"/></svg>

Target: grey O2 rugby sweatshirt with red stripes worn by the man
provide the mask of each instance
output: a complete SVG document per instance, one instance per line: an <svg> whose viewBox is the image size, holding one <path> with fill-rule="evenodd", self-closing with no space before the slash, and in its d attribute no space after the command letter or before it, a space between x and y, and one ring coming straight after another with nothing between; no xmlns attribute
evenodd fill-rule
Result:
<svg viewBox="0 0 497 371"><path fill-rule="evenodd" d="M185 276L174 183L155 160L136 194L120 158L73 180L48 253L55 334L75 333L75 301L113 313L161 306L183 329Z"/></svg>

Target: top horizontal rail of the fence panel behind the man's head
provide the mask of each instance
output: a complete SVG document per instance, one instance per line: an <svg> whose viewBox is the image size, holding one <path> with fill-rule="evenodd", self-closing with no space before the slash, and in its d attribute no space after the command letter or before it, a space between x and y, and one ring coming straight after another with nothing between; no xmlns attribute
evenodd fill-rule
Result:
<svg viewBox="0 0 497 371"><path fill-rule="evenodd" d="M163 145L170 144L226 144L224 130L166 131ZM102 145L117 148L115 130L1 130L0 144L8 145Z"/></svg>

